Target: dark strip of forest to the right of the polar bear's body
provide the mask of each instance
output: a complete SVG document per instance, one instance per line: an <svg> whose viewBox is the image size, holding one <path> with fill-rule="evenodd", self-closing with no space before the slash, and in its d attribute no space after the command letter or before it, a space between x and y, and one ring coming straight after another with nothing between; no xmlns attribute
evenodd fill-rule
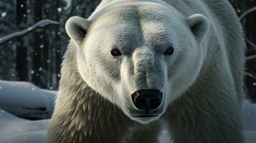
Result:
<svg viewBox="0 0 256 143"><path fill-rule="evenodd" d="M230 0L234 9L237 11L237 15L244 14L248 9L252 9L256 6L255 0ZM245 89L247 95L252 101L256 102L256 11L247 14L244 19L241 20L245 33L245 41L247 44L247 63L245 75Z"/></svg>

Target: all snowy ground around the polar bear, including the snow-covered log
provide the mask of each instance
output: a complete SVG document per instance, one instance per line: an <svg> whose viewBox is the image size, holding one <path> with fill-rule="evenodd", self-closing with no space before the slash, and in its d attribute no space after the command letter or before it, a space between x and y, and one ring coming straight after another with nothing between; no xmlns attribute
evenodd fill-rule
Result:
<svg viewBox="0 0 256 143"><path fill-rule="evenodd" d="M46 130L53 111L56 92L39 89L27 82L0 81L0 143L45 143ZM30 121L16 117L42 118ZM247 143L256 142L256 104L243 104ZM166 130L159 138L169 142Z"/></svg>

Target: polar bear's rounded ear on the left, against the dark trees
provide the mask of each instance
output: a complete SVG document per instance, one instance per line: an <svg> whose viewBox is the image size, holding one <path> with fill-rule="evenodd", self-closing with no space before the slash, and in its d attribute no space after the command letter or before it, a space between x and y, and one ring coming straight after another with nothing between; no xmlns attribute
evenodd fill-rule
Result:
<svg viewBox="0 0 256 143"><path fill-rule="evenodd" d="M79 16L72 16L67 20L65 29L68 36L75 42L76 46L80 46L82 40L87 34L87 29L90 26L90 21L82 19Z"/></svg>

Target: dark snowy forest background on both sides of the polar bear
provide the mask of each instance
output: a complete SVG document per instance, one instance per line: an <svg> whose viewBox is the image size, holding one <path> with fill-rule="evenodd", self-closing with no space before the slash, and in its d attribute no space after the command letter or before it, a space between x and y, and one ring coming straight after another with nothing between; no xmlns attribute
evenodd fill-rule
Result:
<svg viewBox="0 0 256 143"><path fill-rule="evenodd" d="M87 18L100 0L0 0L0 79L25 81L43 89L57 89L60 64L69 38L65 21L70 16ZM231 0L244 28L247 42L245 89L256 101L256 6L255 0ZM244 16L243 16L244 14ZM58 21L29 34L1 43L1 38L29 29L43 19ZM227 19L228 20L228 19Z"/></svg>

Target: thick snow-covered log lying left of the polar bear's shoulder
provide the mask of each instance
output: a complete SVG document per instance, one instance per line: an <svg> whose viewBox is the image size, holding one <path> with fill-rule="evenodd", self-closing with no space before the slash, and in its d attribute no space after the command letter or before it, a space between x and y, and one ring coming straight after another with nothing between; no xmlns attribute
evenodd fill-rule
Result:
<svg viewBox="0 0 256 143"><path fill-rule="evenodd" d="M56 92L39 89L28 82L0 80L0 109L27 119L49 119Z"/></svg>

